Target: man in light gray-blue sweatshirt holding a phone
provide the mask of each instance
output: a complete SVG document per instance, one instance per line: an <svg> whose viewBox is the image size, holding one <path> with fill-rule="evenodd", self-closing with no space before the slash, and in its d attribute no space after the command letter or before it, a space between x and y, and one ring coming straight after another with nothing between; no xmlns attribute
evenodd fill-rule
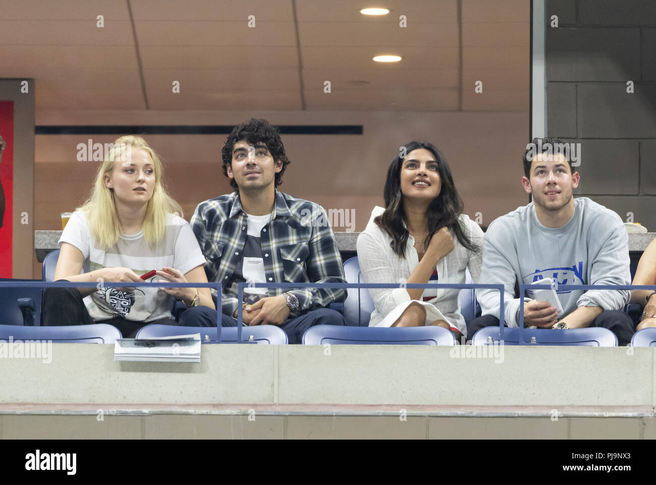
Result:
<svg viewBox="0 0 656 485"><path fill-rule="evenodd" d="M535 138L527 146L522 184L533 202L492 222L483 241L480 281L503 284L504 322L519 326L519 284L550 278L556 284L628 285L628 234L619 216L588 198L573 198L580 175L559 150L547 150L565 140ZM535 150L541 147L542 150ZM569 154L568 151L565 153ZM626 290L564 290L556 288L562 313L527 291L524 324L539 328L605 327L628 345L634 333L630 317L621 311ZM499 325L499 291L476 290L482 316L468 324L467 335Z"/></svg>

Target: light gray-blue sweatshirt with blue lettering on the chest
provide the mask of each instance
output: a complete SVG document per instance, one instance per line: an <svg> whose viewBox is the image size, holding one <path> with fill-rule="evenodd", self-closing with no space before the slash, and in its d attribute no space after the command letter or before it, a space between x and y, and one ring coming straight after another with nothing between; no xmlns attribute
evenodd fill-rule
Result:
<svg viewBox="0 0 656 485"><path fill-rule="evenodd" d="M504 319L518 327L515 282L531 284L551 278L558 284L628 285L630 270L628 234L613 211L586 197L574 200L574 215L562 227L544 227L533 203L518 207L490 224L483 241L481 283L503 284ZM558 298L566 316L579 306L621 310L628 290L562 290ZM527 295L533 298L532 292ZM499 318L499 291L478 289L476 297L483 315Z"/></svg>

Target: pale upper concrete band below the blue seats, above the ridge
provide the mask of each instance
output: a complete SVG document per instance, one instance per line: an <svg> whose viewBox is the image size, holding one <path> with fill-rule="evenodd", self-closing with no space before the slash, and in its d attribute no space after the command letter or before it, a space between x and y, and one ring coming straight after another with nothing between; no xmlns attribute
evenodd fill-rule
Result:
<svg viewBox="0 0 656 485"><path fill-rule="evenodd" d="M57 343L52 344L49 364L35 358L0 359L0 403L32 403L32 409L71 403L112 403L121 409L138 408L138 403L234 409L237 403L247 403L248 408L302 404L396 410L645 410L656 404L654 348L504 347L502 354L478 358L467 356L465 350L414 345L203 345L200 364L175 364L115 362L113 345Z"/></svg>

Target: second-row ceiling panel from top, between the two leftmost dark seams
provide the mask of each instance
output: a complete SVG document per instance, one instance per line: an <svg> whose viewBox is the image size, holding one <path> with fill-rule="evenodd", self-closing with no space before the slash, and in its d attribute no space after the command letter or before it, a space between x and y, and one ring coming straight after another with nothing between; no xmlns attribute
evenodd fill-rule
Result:
<svg viewBox="0 0 656 485"><path fill-rule="evenodd" d="M259 22L249 28L246 22L186 21L134 22L141 46L184 45L284 45L296 47L294 22Z"/></svg>

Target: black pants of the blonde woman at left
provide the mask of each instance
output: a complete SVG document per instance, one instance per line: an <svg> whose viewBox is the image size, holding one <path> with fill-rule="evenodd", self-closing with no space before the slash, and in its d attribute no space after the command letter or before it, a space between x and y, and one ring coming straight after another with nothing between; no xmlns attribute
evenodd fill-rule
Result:
<svg viewBox="0 0 656 485"><path fill-rule="evenodd" d="M123 337L134 338L136 332L149 324L180 325L185 327L208 326L214 322L216 326L216 310L209 306L194 306L182 312L180 322L173 318L160 318L152 322L133 322L119 316L110 320L94 321L77 288L46 288L43 292L41 305L41 325L58 327L64 325L110 324L121 332Z"/></svg>

